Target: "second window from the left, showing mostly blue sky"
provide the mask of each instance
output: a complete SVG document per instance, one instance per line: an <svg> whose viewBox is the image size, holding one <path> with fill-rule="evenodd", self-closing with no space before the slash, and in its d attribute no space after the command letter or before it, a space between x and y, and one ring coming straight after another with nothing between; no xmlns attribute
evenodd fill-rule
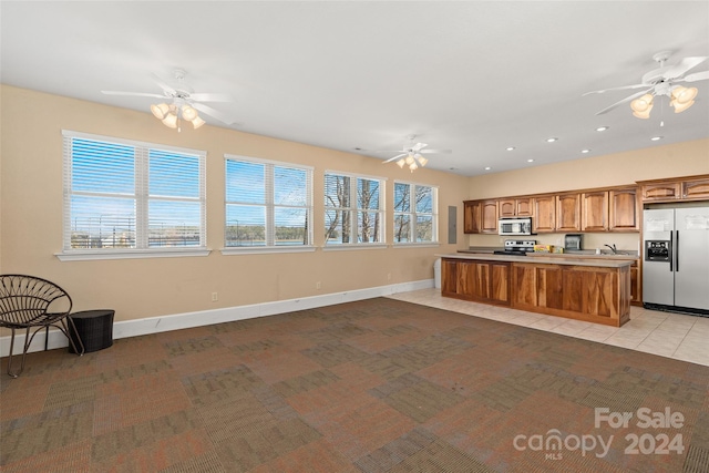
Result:
<svg viewBox="0 0 709 473"><path fill-rule="evenodd" d="M312 245L312 168L226 156L227 248Z"/></svg>

